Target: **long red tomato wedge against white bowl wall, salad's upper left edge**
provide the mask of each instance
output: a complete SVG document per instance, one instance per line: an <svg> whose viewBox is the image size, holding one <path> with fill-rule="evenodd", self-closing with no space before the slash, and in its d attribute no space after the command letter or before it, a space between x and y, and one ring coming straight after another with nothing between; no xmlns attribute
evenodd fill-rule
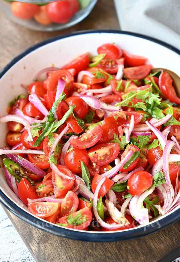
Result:
<svg viewBox="0 0 180 262"><path fill-rule="evenodd" d="M89 62L90 62L89 53L85 53L73 59L67 65L63 66L62 69L75 68L76 72L79 73L80 71L85 70L88 67Z"/></svg>

